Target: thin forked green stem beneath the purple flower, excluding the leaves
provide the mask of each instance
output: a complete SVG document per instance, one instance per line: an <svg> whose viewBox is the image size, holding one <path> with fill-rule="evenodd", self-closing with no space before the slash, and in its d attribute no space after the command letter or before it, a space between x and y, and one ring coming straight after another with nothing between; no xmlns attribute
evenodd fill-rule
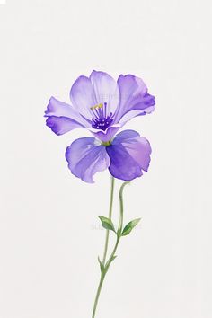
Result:
<svg viewBox="0 0 212 318"><path fill-rule="evenodd" d="M99 286L98 286L98 289L97 289L97 293L96 293L96 296L95 296L92 318L95 318L96 308L97 308L99 297L100 297L101 290L102 290L102 284L103 284L104 278L105 278L105 276L107 274L107 271L110 268L110 264L115 258L115 253L116 253L117 248L119 246L119 240L121 238L121 233L122 233L122 229L123 229L123 211L124 211L124 207L123 207L123 190L124 190L124 187L126 186L126 184L128 184L128 183L129 182L124 182L122 184L122 186L120 187L120 190L119 190L120 214L119 214L119 227L118 227L118 231L117 231L117 240L116 240L115 246L113 248L113 251L110 254L110 258L105 264L106 255L107 255L107 251L108 251L108 238L109 238L109 234L108 234L109 231L107 231L105 249L104 249L104 257L103 257L103 261L102 261L101 279L100 279L100 283L99 283ZM110 191L110 218L111 218L111 208L112 208L112 201L113 201L113 187L114 187L114 179L112 178L112 180L111 180L111 191Z"/></svg>

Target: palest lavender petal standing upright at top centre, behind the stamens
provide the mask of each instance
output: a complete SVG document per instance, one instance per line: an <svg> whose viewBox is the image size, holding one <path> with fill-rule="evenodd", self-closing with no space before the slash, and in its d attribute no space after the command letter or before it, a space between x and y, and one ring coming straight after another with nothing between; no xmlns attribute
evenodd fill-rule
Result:
<svg viewBox="0 0 212 318"><path fill-rule="evenodd" d="M93 71L90 75L97 103L107 102L108 113L116 110L119 103L117 82L105 72Z"/></svg>

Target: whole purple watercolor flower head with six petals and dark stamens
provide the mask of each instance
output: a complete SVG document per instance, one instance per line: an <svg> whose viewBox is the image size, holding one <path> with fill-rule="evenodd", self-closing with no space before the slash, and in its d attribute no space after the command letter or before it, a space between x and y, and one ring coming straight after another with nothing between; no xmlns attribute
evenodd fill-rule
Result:
<svg viewBox="0 0 212 318"><path fill-rule="evenodd" d="M49 100L47 126L57 135L85 128L94 137L76 139L66 149L68 167L76 177L93 182L93 175L109 168L118 179L130 181L147 171L151 147L136 131L119 128L136 116L155 110L155 98L134 75L119 75L116 82L104 72L80 76L70 92L71 104Z"/></svg>

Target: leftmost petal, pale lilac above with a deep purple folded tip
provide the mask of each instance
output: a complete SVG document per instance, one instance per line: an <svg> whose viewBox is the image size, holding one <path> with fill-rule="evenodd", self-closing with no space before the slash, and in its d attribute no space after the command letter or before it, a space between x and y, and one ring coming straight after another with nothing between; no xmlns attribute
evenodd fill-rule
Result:
<svg viewBox="0 0 212 318"><path fill-rule="evenodd" d="M75 128L86 128L89 123L66 102L51 97L45 111L47 126L57 135L65 134Z"/></svg>

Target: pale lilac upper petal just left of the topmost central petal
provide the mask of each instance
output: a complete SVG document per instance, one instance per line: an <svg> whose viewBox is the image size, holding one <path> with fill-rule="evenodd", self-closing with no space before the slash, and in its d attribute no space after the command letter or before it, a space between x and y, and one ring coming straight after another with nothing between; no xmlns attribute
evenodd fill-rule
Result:
<svg viewBox="0 0 212 318"><path fill-rule="evenodd" d="M75 110L80 112L84 118L91 120L93 113L91 107L97 104L93 84L90 78L80 76L72 85L70 99Z"/></svg>

